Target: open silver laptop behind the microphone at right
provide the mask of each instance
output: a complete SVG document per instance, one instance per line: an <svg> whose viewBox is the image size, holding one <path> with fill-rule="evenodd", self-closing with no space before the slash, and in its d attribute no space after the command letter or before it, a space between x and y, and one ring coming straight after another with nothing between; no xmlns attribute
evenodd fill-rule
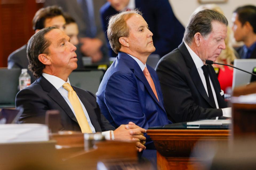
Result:
<svg viewBox="0 0 256 170"><path fill-rule="evenodd" d="M256 67L256 59L235 59L234 66L251 72L253 68ZM234 69L232 89L234 89L234 87L243 86L250 83L251 76L251 74Z"/></svg>

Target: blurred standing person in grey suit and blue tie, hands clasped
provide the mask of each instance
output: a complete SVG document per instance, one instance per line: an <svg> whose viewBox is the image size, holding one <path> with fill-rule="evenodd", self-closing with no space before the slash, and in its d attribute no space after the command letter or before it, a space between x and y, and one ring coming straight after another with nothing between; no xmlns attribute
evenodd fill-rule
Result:
<svg viewBox="0 0 256 170"><path fill-rule="evenodd" d="M92 62L108 62L105 35L99 16L100 7L106 0L46 0L45 6L58 5L75 19L83 56L91 57Z"/></svg>

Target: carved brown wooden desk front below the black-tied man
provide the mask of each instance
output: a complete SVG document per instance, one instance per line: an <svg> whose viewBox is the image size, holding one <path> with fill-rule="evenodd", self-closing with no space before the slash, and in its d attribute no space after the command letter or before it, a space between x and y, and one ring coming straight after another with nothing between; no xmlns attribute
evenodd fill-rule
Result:
<svg viewBox="0 0 256 170"><path fill-rule="evenodd" d="M206 149L216 142L227 142L230 130L149 129L147 134L157 148L157 169L204 169L203 161L190 158L191 151ZM194 148L196 142L202 145Z"/></svg>

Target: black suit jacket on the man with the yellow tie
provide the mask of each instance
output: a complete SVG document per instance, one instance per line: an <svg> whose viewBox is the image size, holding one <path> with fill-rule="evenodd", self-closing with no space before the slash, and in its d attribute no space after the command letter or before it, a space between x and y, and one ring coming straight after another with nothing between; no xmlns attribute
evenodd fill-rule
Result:
<svg viewBox="0 0 256 170"><path fill-rule="evenodd" d="M95 96L89 91L72 87L84 104L95 131L114 130L115 128L101 114ZM19 118L20 123L45 124L46 111L54 109L60 111L62 125L60 130L81 131L77 119L65 99L43 76L29 87L19 91L15 102L16 107L24 108L24 112Z"/></svg>

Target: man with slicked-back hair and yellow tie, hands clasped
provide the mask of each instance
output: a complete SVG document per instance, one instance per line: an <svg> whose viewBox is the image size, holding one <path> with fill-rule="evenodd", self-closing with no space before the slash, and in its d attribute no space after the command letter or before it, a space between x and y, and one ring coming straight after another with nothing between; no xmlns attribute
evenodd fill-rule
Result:
<svg viewBox="0 0 256 170"><path fill-rule="evenodd" d="M137 141L139 151L145 149L139 142L146 139L142 134L145 129L129 122L115 130L101 114L91 92L70 86L68 76L77 68L75 50L70 38L55 27L41 29L30 38L27 45L29 69L39 78L16 96L16 107L24 108L19 122L44 124L47 110L59 110L60 130L103 131L106 139Z"/></svg>

